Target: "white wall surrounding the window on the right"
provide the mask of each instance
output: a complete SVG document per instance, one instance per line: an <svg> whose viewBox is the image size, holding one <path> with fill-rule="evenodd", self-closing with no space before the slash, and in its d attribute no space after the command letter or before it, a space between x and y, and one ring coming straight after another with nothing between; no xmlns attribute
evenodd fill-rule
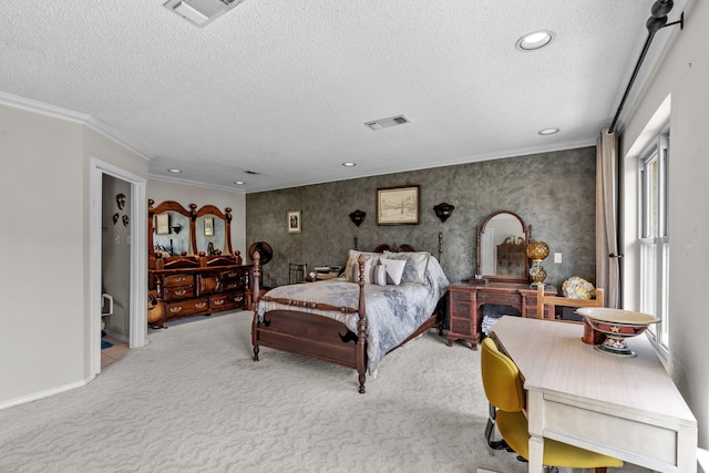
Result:
<svg viewBox="0 0 709 473"><path fill-rule="evenodd" d="M679 12L678 12L679 13ZM699 445L709 446L709 316L707 315L707 268L709 268L709 2L690 0L685 9L685 28L661 30L672 34L671 47L643 91L640 103L621 130L626 192L636 192L637 154L647 142L645 131L662 103L670 99L670 359L669 371L699 422ZM668 29L669 30L669 29ZM661 112L660 112L661 115ZM626 202L626 205L629 205ZM633 234L637 222L626 222ZM637 251L625 248L630 266ZM625 268L624 266L624 268ZM630 268L628 268L628 273ZM637 278L624 288L624 299L637 304ZM630 307L633 308L633 307Z"/></svg>

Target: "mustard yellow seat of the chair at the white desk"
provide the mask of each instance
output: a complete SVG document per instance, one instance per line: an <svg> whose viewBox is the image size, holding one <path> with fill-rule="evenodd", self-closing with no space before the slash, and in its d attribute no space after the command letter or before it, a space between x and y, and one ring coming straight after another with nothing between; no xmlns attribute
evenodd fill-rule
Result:
<svg viewBox="0 0 709 473"><path fill-rule="evenodd" d="M507 445L520 456L530 459L530 432L524 412L505 412L497 410L497 430ZM573 469L620 467L623 461L589 450L579 449L567 443L544 439L545 465Z"/></svg>

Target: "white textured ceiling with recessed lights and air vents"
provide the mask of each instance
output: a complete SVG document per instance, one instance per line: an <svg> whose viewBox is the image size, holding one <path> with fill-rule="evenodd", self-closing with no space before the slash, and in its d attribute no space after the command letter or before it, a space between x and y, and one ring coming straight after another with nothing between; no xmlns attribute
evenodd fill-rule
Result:
<svg viewBox="0 0 709 473"><path fill-rule="evenodd" d="M0 92L91 116L152 176L248 193L420 169L595 144L653 2L246 0L199 29L164 0L3 1ZM515 49L541 29L549 47Z"/></svg>

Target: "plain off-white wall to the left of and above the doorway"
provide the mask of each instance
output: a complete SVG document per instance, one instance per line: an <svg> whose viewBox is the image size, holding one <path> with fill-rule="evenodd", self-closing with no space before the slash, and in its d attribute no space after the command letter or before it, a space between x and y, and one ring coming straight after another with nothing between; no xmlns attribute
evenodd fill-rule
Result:
<svg viewBox="0 0 709 473"><path fill-rule="evenodd" d="M145 160L76 121L0 104L0 407L90 379L96 154L147 176Z"/></svg>

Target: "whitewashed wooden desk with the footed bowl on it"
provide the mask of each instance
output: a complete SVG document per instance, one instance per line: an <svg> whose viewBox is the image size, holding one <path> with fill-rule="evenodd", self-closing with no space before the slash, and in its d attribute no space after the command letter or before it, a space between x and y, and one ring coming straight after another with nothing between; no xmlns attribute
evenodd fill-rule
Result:
<svg viewBox="0 0 709 473"><path fill-rule="evenodd" d="M530 472L542 472L544 438L658 472L697 471L697 420L645 336L638 356L615 357L580 341L583 326L503 317L493 337L527 390Z"/></svg>

